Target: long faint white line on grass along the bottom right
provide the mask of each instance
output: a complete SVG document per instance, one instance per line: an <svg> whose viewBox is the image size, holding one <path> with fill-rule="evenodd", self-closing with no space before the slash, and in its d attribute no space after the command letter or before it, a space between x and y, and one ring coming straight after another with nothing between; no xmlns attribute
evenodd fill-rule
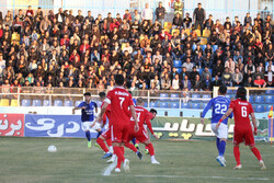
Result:
<svg viewBox="0 0 274 183"><path fill-rule="evenodd" d="M193 179L216 179L216 180L247 180L247 181L270 181L269 178L231 178L231 176L190 176L190 175L135 175L136 178L193 178Z"/></svg>

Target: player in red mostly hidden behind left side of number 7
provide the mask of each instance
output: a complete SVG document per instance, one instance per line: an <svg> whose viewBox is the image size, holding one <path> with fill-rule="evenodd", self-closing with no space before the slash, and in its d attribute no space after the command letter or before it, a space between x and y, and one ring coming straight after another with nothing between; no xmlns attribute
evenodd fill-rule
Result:
<svg viewBox="0 0 274 183"><path fill-rule="evenodd" d="M102 106L104 105L104 100L105 100L105 92L100 92L99 93L100 96L100 101L102 101ZM112 140L111 140L111 130L110 130L110 125L111 125L111 105L109 105L105 110L105 114L103 115L103 119L102 119L102 127L105 126L105 131L102 133L96 142L98 145L101 147L101 149L103 149L103 151L105 152L105 155L102 157L102 159L109 158L112 156L113 153L113 147L112 147ZM106 124L106 121L109 119L109 124ZM107 149L107 147L105 146L104 141L106 141L107 146L110 147L110 150Z"/></svg>

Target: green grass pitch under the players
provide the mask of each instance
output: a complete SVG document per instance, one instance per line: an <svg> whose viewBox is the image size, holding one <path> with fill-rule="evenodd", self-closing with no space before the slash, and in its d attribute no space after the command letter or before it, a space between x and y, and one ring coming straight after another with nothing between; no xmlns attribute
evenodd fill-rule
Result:
<svg viewBox="0 0 274 183"><path fill-rule="evenodd" d="M47 152L49 145L55 145L58 151ZM274 148L269 144L258 144L267 171L260 170L256 159L243 145L240 147L243 170L238 171L232 169L236 162L231 142L227 146L226 168L221 168L215 160L217 150L214 141L159 140L153 141L153 145L160 165L150 164L147 155L140 161L126 149L130 172L113 172L111 176L102 176L102 170L109 164L101 159L103 152L94 144L88 149L85 139L1 137L0 182L274 182Z"/></svg>

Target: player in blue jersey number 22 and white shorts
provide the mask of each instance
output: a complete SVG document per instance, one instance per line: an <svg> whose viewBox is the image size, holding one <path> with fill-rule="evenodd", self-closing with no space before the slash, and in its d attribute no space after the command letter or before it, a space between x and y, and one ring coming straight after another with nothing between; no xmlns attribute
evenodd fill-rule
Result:
<svg viewBox="0 0 274 183"><path fill-rule="evenodd" d="M216 158L216 160L220 163L221 167L226 167L226 159L224 155L226 150L226 141L228 138L228 127L227 127L228 119L222 121L218 129L216 129L216 125L218 124L221 116L226 114L230 104L230 100L225 96L226 93L227 93L227 88L225 85L221 85L218 91L218 96L212 99L208 102L208 104L206 105L205 110L202 113L202 118L201 118L201 123L204 124L204 117L206 113L208 112L209 108L213 107L212 130L217 136L216 146L217 146L219 156ZM232 114L230 114L229 117L231 118Z"/></svg>

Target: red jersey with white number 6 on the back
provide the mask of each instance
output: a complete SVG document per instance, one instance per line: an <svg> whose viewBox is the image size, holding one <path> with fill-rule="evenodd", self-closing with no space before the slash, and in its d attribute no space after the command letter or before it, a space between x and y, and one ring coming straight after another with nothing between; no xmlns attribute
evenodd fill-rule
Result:
<svg viewBox="0 0 274 183"><path fill-rule="evenodd" d="M229 108L233 110L235 128L251 127L249 115L254 113L251 103L237 99L230 102Z"/></svg>

